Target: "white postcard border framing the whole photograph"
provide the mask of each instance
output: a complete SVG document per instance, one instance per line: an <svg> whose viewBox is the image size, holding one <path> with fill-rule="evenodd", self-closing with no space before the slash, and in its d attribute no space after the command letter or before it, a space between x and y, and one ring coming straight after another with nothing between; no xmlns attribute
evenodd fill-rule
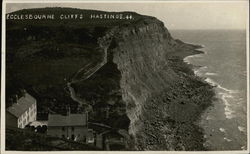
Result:
<svg viewBox="0 0 250 154"><path fill-rule="evenodd" d="M7 3L246 3L248 2L248 12L247 12L247 27L246 27L246 53L247 53L247 150L241 150L241 151L6 151L5 150L5 61L6 61L6 54L5 54L5 38L6 38L6 31L5 31L5 14L6 14L6 4ZM119 153L119 154L131 154L131 153L150 153L150 154L198 154L198 153L204 153L204 154L247 154L250 153L249 147L250 147L250 134L249 134L249 127L250 127L250 113L249 113L249 101L250 101L250 70L249 70L249 1L248 0L137 0L137 1L127 1L127 0L120 0L120 1L105 1L105 0L95 0L95 1L85 1L85 0L4 0L2 3L2 69L1 69L1 153L3 154L27 154L27 153L36 153L36 154L45 154L45 153L55 153L55 154L113 154L113 153Z"/></svg>

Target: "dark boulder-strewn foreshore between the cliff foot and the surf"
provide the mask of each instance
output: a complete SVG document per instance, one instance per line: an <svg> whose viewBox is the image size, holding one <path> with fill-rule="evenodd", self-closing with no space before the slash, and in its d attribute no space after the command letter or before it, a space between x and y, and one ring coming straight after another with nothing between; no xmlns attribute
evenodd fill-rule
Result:
<svg viewBox="0 0 250 154"><path fill-rule="evenodd" d="M194 74L192 64L184 62L187 56L204 54L196 47L185 44L169 54L169 69L178 77L168 85L169 88L145 102L141 133L136 135L137 150L207 150L203 145L204 130L197 121L212 105L215 92L213 86Z"/></svg>

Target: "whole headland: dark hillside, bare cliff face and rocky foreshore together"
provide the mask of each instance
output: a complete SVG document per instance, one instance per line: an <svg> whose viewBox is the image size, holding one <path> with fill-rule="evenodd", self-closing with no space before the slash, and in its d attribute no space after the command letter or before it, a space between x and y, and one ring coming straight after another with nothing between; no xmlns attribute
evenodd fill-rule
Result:
<svg viewBox="0 0 250 154"><path fill-rule="evenodd" d="M69 104L75 112L86 110L87 103L90 120L127 130L127 150L203 150L195 122L214 93L182 61L201 53L195 50L200 46L175 40L154 17L130 14L133 20L97 26L97 20L53 26L9 21L7 95L26 88L41 111L59 113Z"/></svg>

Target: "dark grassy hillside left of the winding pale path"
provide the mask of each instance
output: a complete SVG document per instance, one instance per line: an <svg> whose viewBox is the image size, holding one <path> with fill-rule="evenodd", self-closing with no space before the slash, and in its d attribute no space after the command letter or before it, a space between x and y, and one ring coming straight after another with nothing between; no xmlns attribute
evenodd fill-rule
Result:
<svg viewBox="0 0 250 154"><path fill-rule="evenodd" d="M98 62L97 38L121 20L91 20L102 11L71 8L29 9L14 14L84 14L80 20L7 21L7 98L26 88L38 99L70 101L64 86L76 71ZM134 14L135 15L135 14ZM57 18L56 18L57 19ZM67 97L66 99L63 97ZM40 101L39 101L40 102ZM7 104L8 106L8 104ZM42 106L42 105L40 105Z"/></svg>

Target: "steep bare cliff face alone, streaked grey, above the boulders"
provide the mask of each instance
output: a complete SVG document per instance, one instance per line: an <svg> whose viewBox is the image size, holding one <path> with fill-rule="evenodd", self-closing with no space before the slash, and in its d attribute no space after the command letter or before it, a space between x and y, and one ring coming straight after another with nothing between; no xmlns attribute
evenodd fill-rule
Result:
<svg viewBox="0 0 250 154"><path fill-rule="evenodd" d="M130 133L135 135L145 102L160 93L175 78L168 68L167 53L173 51L173 41L162 23L122 28L122 39L115 39L113 61L121 72L122 98L127 103Z"/></svg>

